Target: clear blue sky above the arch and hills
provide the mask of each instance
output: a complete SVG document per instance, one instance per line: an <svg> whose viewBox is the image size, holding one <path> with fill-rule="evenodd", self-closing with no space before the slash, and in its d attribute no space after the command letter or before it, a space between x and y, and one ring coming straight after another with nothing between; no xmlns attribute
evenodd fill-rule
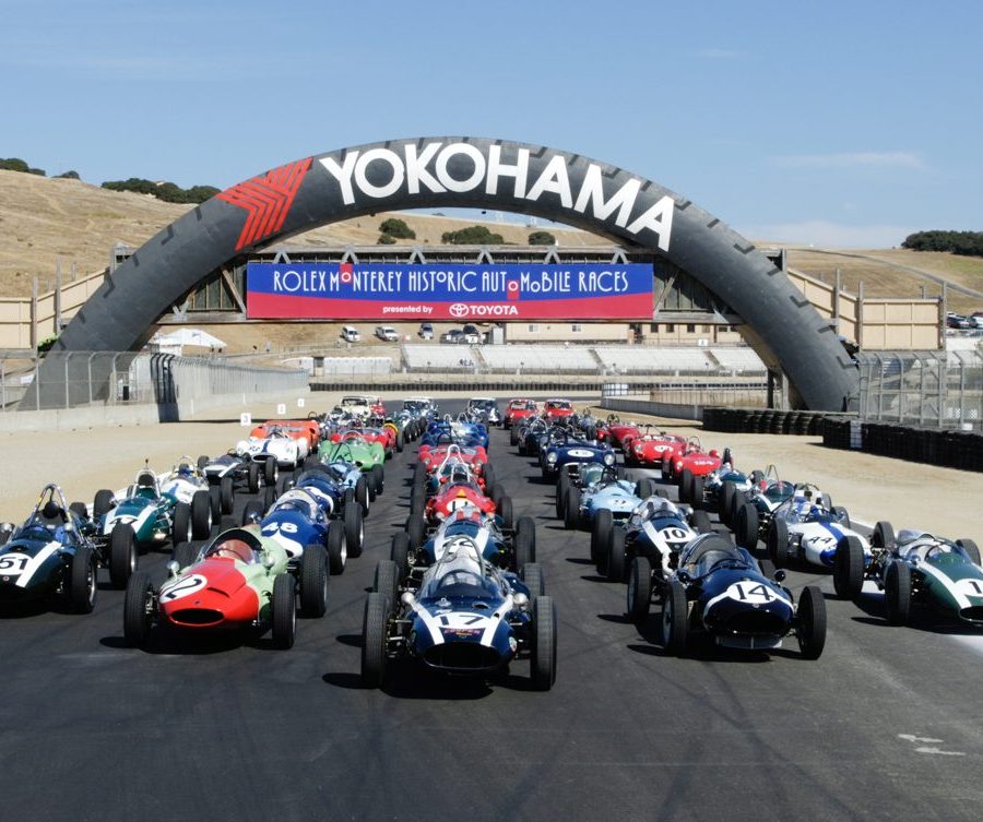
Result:
<svg viewBox="0 0 983 822"><path fill-rule="evenodd" d="M753 239L983 230L983 2L0 0L0 156L226 187L379 140L588 155Z"/></svg>

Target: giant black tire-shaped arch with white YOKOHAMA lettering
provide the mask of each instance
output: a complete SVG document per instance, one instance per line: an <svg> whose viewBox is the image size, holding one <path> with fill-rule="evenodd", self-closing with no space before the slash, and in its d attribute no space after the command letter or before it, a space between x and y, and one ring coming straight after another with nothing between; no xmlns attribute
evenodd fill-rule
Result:
<svg viewBox="0 0 983 822"><path fill-rule="evenodd" d="M405 158L402 177L387 159L392 156ZM417 162L411 171L412 158ZM489 184L493 159L499 171L496 186ZM524 169L524 184L516 169ZM477 182L465 189L473 180ZM583 207L584 191L600 201L588 198ZM623 207L626 201L630 207ZM624 169L547 146L482 138L419 138L341 148L233 186L126 260L80 309L54 350L135 350L162 314L238 255L343 219L426 207L531 214L650 249L744 319L746 338L769 367L781 367L798 404L841 410L856 393L856 369L829 322L781 270L720 219ZM52 364L45 377L43 365L43 381L57 381L57 367ZM64 389L54 394L63 398ZM43 400L40 404L45 406Z"/></svg>

